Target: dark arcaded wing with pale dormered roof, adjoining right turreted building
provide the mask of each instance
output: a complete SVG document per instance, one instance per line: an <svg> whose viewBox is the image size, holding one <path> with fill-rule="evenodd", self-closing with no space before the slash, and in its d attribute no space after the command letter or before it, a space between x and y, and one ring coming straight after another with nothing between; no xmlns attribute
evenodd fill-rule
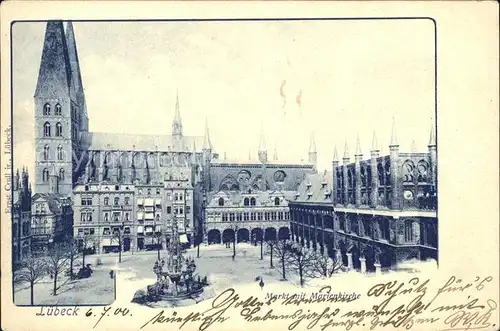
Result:
<svg viewBox="0 0 500 331"><path fill-rule="evenodd" d="M332 173L310 174L288 202L292 240L334 257Z"/></svg>

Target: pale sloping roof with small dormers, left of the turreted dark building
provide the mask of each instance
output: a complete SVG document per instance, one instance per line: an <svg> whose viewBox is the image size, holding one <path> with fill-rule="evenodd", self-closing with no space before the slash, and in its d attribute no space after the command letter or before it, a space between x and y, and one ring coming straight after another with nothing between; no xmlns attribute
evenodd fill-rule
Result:
<svg viewBox="0 0 500 331"><path fill-rule="evenodd" d="M331 171L308 174L300 183L296 196L292 200L312 203L332 203L332 184L333 173ZM330 196L327 196L325 193L329 193Z"/></svg>

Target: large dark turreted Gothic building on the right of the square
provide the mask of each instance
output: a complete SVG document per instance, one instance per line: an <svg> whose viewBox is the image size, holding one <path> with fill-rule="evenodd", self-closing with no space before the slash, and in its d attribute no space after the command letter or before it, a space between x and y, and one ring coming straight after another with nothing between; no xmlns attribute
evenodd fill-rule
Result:
<svg viewBox="0 0 500 331"><path fill-rule="evenodd" d="M342 165L333 160L335 250L359 270L400 262L437 260L437 153L434 129L428 153L401 153L393 127L389 155L379 155L374 134L371 158L357 143L354 163L346 144Z"/></svg>

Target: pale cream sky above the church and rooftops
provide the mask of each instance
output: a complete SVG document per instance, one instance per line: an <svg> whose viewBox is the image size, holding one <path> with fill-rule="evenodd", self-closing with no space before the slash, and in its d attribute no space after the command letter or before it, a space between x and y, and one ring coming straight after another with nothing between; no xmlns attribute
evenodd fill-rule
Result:
<svg viewBox="0 0 500 331"><path fill-rule="evenodd" d="M429 20L74 22L93 132L170 134L176 93L184 135L216 152L307 160L331 170L359 136L388 153L427 151L434 125L434 27ZM14 168L34 168L34 100L45 23L13 25ZM300 104L297 96L300 96ZM201 146L198 146L200 148Z"/></svg>

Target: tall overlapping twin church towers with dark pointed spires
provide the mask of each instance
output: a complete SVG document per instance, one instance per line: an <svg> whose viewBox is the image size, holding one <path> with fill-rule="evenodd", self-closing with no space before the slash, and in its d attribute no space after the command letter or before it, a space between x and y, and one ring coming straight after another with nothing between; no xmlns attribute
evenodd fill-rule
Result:
<svg viewBox="0 0 500 331"><path fill-rule="evenodd" d="M62 21L47 22L34 98L35 192L50 192L50 177L55 173L58 192L69 196L83 171L77 169L80 133L88 126L71 23L65 35Z"/></svg>

